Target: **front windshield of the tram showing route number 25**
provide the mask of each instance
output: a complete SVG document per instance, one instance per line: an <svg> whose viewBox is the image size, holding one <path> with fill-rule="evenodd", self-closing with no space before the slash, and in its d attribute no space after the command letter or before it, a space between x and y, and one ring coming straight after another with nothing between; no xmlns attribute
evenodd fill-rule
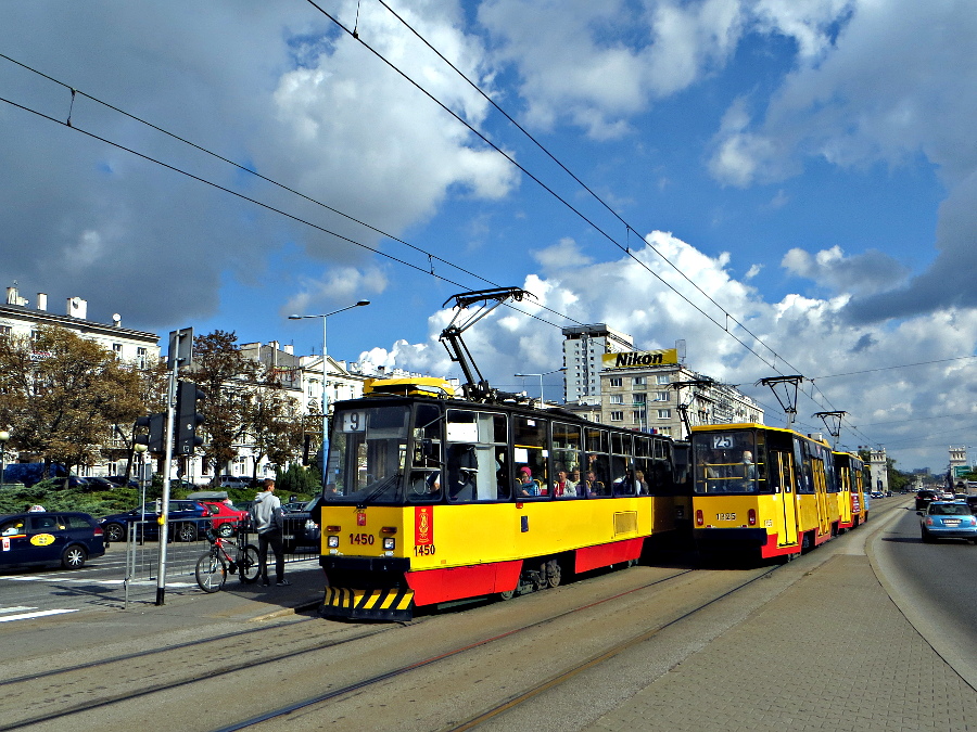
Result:
<svg viewBox="0 0 977 732"><path fill-rule="evenodd" d="M765 465L752 431L695 433L693 452L695 492L756 493L761 490Z"/></svg>

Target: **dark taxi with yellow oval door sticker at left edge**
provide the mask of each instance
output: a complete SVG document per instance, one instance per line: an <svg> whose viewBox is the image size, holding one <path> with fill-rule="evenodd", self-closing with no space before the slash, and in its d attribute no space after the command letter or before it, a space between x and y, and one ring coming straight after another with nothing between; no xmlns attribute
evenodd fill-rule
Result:
<svg viewBox="0 0 977 732"><path fill-rule="evenodd" d="M0 516L0 569L61 565L78 569L105 553L102 527L87 513L52 511Z"/></svg>

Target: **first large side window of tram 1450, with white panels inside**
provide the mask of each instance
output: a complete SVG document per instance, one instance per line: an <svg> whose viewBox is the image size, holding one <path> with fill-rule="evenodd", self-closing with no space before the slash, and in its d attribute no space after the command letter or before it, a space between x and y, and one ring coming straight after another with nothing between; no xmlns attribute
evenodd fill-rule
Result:
<svg viewBox="0 0 977 732"><path fill-rule="evenodd" d="M505 478L506 418L493 412L451 409L445 422L447 452L442 490L448 501L508 499Z"/></svg>

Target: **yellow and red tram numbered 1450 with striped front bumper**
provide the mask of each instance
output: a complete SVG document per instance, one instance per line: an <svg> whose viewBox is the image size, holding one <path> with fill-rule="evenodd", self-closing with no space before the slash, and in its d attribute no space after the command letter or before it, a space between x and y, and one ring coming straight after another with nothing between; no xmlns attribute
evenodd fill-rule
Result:
<svg viewBox="0 0 977 732"><path fill-rule="evenodd" d="M684 444L558 409L371 394L335 404L326 617L409 619L419 606L556 587L636 563L649 537L687 524Z"/></svg>

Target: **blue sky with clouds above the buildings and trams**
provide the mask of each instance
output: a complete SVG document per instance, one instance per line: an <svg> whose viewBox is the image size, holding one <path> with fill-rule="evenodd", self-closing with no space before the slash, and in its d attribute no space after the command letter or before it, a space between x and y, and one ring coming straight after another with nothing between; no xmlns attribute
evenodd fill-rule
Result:
<svg viewBox="0 0 977 732"><path fill-rule="evenodd" d="M73 125L0 103L7 284L296 352L321 330L290 313L366 298L330 319L331 355L446 375L442 304L515 285L537 299L467 334L497 386L561 365L560 325L606 322L639 348L685 339L771 424L753 383L814 378L801 427L845 410L842 444L902 468L977 444L973 2L384 3L317 3L347 29L358 11L359 40L301 0L0 5L0 53L66 85L0 59L0 97Z"/></svg>

